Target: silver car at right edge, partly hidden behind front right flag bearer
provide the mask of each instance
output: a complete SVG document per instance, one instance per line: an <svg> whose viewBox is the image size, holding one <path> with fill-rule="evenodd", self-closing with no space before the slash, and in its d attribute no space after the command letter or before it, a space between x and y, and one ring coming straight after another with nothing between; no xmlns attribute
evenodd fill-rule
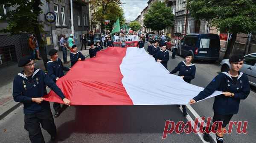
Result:
<svg viewBox="0 0 256 143"><path fill-rule="evenodd" d="M221 72L230 69L230 62L228 60L224 59L221 61ZM256 53L250 53L244 56L244 65L240 71L248 76L250 84L256 86Z"/></svg>

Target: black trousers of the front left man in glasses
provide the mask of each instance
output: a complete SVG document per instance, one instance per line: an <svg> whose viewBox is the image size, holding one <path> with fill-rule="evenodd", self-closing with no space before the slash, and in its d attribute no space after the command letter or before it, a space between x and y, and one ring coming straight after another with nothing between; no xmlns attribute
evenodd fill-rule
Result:
<svg viewBox="0 0 256 143"><path fill-rule="evenodd" d="M25 114L24 128L29 132L31 143L45 143L40 124L51 136L56 136L56 126L50 110L34 114Z"/></svg>

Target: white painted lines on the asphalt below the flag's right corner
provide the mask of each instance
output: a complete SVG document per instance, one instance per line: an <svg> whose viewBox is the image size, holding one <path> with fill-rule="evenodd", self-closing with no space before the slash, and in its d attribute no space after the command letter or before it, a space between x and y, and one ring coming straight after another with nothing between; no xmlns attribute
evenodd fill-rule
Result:
<svg viewBox="0 0 256 143"><path fill-rule="evenodd" d="M187 107L187 109L189 109L190 112L195 116L195 118L198 118L198 122L204 122L204 121L201 119L201 117L198 115L198 113L195 112L195 110L192 108L191 105L186 105L186 107ZM182 107L181 107L181 106L180 106L180 110L182 111ZM193 119L191 118L191 116L190 116L189 114L186 116L186 119L187 119L188 121L191 121L192 126L195 125L195 122L193 121ZM204 126L205 126L205 125L206 125L206 123L204 122ZM202 140L203 143L209 143L209 142L207 142L207 141L204 140L203 134L201 134L200 132L198 132L197 135L200 137L200 139ZM213 134L212 132L210 132L210 136L212 137L214 143L217 143L217 141L216 141L216 135Z"/></svg>

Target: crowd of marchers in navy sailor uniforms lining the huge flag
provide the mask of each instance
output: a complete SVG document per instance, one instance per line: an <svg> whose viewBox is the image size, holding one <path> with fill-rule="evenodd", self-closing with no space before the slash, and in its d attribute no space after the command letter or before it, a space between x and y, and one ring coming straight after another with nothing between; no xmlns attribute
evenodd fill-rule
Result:
<svg viewBox="0 0 256 143"><path fill-rule="evenodd" d="M123 34L121 34L122 36ZM113 41L110 36L105 41L105 47L112 47ZM35 42L31 35L29 42ZM81 37L85 40L84 35ZM61 59L58 58L58 50L52 49L49 51L50 60L47 62L47 74L43 70L35 69L34 53L33 56L24 56L19 62L18 66L23 67L23 71L17 74L13 84L13 98L17 102L24 104L25 126L24 128L29 132L29 139L32 143L45 143L41 132L41 127L47 130L51 135L51 140L55 140L57 132L50 104L44 101L43 96L47 94L46 86L52 89L64 102L64 106L69 106L70 100L65 97L62 91L55 84L58 79L64 76L64 70L68 71L77 61L84 60L84 55L77 50L73 34L65 40L65 35L62 35L60 40L61 50L63 51L64 63L67 62L67 50L70 50L71 67L65 67ZM141 35L137 47L144 48L145 41L148 41L147 52L153 56L156 62L160 62L168 70L169 52L166 50L165 43L159 43L158 40L146 39ZM35 42L36 43L36 42ZM121 39L121 46L125 47L125 39ZM159 46L160 45L160 46ZM176 45L175 45L176 46ZM83 45L81 47L81 50ZM94 47L93 42L90 44L89 54L90 58L95 58L97 52L103 50L102 42L97 42ZM40 59L40 57L37 57ZM170 74L178 73L178 76L183 78L187 83L190 83L195 78L196 67L192 63L193 54L187 53L185 60L181 61ZM225 130L226 125L234 114L238 113L239 103L241 99L247 98L250 93L250 86L248 78L239 70L243 65L242 55L233 55L229 59L231 69L224 73L219 73L197 96L190 100L189 104L194 104L204 98L207 98L214 91L222 91L222 95L215 97L213 104L213 122L223 122L221 131ZM180 105L177 105L178 107ZM54 103L55 110L54 117L57 118L61 113L61 105ZM182 105L183 115L186 116L186 106ZM223 132L217 132L217 143L223 143ZM204 134L204 139L209 141L209 134Z"/></svg>

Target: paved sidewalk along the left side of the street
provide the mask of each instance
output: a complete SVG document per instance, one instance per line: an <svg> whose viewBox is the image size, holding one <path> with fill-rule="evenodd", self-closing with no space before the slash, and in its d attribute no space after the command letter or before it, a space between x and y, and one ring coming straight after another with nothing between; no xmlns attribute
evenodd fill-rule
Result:
<svg viewBox="0 0 256 143"><path fill-rule="evenodd" d="M80 50L81 46L78 46ZM90 46L87 46L86 49L89 49ZM89 56L89 50L80 51L86 58ZM70 61L70 50L67 51L67 61ZM63 62L63 54L62 51L58 51L58 58ZM64 64L66 67L70 67L70 62L68 64ZM45 70L43 60L39 60L36 62L35 68L40 68L41 70ZM3 67L0 69L0 120L12 112L14 109L19 107L21 104L15 102L12 97L12 86L13 79L23 69L21 67L17 67L17 64Z"/></svg>

